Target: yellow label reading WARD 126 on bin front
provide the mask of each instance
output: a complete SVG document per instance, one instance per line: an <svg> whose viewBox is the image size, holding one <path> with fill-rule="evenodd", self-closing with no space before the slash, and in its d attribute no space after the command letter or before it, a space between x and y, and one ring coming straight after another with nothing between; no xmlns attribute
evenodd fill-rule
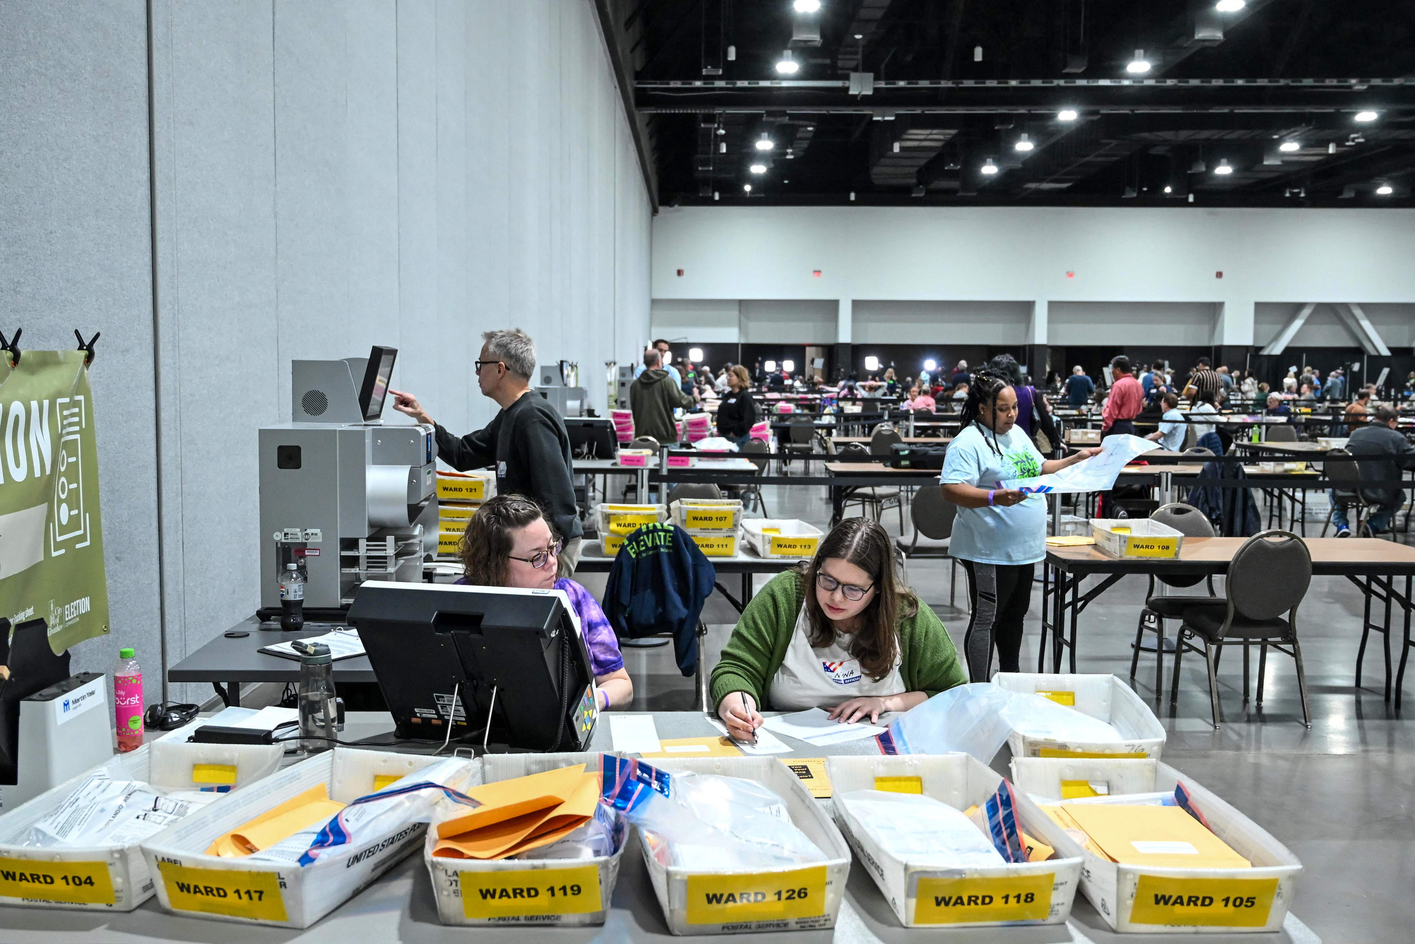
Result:
<svg viewBox="0 0 1415 944"><path fill-rule="evenodd" d="M688 923L785 921L825 914L825 866L757 875L689 875Z"/></svg>

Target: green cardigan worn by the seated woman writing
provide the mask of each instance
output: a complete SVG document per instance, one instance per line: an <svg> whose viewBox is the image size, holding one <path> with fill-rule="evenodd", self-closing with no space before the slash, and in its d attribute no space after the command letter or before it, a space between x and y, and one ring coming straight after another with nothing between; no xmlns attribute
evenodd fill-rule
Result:
<svg viewBox="0 0 1415 944"><path fill-rule="evenodd" d="M713 709L732 692L753 695L758 706L771 703L771 679L787 657L804 599L805 587L795 570L778 573L751 599L712 671ZM932 696L968 684L948 630L923 600L918 613L900 620L899 644L906 691Z"/></svg>

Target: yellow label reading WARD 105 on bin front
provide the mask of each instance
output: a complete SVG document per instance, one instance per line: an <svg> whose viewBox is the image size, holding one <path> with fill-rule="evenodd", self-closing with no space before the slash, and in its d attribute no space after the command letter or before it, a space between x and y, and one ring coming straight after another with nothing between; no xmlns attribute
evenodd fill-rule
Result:
<svg viewBox="0 0 1415 944"><path fill-rule="evenodd" d="M1278 879L1180 879L1142 875L1135 886L1135 924L1264 927Z"/></svg>

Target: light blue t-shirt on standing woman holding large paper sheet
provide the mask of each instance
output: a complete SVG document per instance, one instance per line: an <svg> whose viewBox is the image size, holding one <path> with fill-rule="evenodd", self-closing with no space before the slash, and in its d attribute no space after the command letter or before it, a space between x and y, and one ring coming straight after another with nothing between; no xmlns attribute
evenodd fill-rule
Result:
<svg viewBox="0 0 1415 944"><path fill-rule="evenodd" d="M992 443L996 443L993 447ZM945 485L996 488L1009 478L1033 478L1046 461L1020 426L993 440L990 432L974 423L948 443L944 471ZM958 508L948 556L975 563L1036 563L1047 556L1047 501L1029 495L1026 501L1003 508Z"/></svg>

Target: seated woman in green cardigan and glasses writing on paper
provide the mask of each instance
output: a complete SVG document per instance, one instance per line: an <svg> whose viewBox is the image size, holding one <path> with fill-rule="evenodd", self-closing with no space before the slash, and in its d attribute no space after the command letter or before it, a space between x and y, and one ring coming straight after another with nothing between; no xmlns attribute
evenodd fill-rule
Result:
<svg viewBox="0 0 1415 944"><path fill-rule="evenodd" d="M944 624L896 580L889 534L846 518L812 560L773 577L743 610L712 698L732 736L751 740L758 705L876 722L966 682Z"/></svg>

